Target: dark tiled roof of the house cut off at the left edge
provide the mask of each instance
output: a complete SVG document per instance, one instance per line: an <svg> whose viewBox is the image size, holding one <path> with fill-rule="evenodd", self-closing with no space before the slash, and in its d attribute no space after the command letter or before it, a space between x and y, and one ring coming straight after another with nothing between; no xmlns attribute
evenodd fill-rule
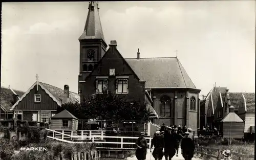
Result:
<svg viewBox="0 0 256 160"><path fill-rule="evenodd" d="M19 98L22 97L25 93L20 90L13 89L13 91L19 96ZM14 104L13 95L14 93L11 89L1 87L1 106L4 107L6 111L10 111L12 105Z"/></svg>

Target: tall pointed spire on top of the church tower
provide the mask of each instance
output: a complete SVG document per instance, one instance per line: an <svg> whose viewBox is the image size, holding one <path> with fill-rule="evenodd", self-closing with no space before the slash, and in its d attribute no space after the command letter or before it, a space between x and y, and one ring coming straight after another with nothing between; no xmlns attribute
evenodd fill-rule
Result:
<svg viewBox="0 0 256 160"><path fill-rule="evenodd" d="M99 3L89 2L88 10L86 25L79 40L102 39L105 41L99 17Z"/></svg>

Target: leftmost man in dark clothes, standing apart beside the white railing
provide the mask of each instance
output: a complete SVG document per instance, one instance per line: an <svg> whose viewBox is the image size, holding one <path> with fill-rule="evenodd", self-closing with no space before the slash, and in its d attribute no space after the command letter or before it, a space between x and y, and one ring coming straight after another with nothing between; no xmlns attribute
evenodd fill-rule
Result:
<svg viewBox="0 0 256 160"><path fill-rule="evenodd" d="M147 149L147 141L144 138L144 132L140 133L140 137L136 141L137 150L135 155L138 160L145 160L146 159L146 149Z"/></svg>

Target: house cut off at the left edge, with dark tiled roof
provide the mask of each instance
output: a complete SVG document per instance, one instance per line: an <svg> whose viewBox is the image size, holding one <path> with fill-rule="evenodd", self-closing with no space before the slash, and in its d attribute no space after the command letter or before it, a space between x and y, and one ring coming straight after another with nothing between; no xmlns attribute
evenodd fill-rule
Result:
<svg viewBox="0 0 256 160"><path fill-rule="evenodd" d="M13 111L11 110L11 107L23 95L24 95L24 92L20 90L14 90L10 86L9 88L1 87L1 109L0 109L1 120L12 119Z"/></svg>

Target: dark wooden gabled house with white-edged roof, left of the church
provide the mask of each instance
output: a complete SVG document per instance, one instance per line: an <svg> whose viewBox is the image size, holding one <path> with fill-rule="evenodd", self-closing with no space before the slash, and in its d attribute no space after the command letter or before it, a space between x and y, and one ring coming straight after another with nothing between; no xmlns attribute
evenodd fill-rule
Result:
<svg viewBox="0 0 256 160"><path fill-rule="evenodd" d="M49 123L56 114L57 107L67 102L80 103L79 94L69 91L69 86L63 89L38 80L12 106L14 118L19 120Z"/></svg>

